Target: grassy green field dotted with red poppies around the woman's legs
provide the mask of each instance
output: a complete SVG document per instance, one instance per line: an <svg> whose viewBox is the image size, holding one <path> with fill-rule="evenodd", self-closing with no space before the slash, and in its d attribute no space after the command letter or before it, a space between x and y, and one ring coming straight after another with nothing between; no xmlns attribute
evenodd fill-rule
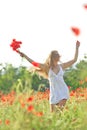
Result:
<svg viewBox="0 0 87 130"><path fill-rule="evenodd" d="M87 129L87 88L70 91L64 109L55 106L53 113L50 113L49 94L49 89L0 92L0 130Z"/></svg>

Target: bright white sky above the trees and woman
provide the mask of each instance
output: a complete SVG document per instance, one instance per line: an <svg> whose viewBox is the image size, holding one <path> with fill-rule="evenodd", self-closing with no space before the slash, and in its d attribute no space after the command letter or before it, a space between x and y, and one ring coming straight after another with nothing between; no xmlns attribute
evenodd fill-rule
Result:
<svg viewBox="0 0 87 130"><path fill-rule="evenodd" d="M79 60L87 54L87 0L0 0L0 63L31 66L12 50L12 39L22 41L20 51L43 63L58 50L61 61L74 57L81 42ZM80 29L75 35L71 27Z"/></svg>

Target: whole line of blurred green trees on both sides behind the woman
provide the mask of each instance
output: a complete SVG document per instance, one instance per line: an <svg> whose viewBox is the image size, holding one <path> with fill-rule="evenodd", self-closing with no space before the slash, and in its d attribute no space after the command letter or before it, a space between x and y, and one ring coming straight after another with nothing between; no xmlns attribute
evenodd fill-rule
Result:
<svg viewBox="0 0 87 130"><path fill-rule="evenodd" d="M13 67L12 64L0 64L0 90L4 93L11 91L12 87L15 88L19 84L19 80L22 83L23 88L34 89L35 91L44 91L45 88L49 88L49 81L39 76L37 73L28 71L24 66ZM76 63L75 66L70 67L65 71L64 80L71 89L79 87L79 81L87 78L87 60L81 60ZM41 86L44 86L43 89ZM87 87L87 82L83 82L81 87Z"/></svg>

